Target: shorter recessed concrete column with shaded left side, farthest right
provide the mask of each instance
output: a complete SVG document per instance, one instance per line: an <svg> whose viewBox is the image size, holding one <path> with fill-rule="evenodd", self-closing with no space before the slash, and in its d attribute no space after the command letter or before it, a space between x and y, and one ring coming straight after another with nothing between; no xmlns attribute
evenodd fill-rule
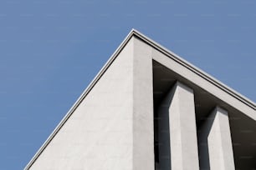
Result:
<svg viewBox="0 0 256 170"><path fill-rule="evenodd" d="M228 112L215 107L199 130L201 170L234 170Z"/></svg>

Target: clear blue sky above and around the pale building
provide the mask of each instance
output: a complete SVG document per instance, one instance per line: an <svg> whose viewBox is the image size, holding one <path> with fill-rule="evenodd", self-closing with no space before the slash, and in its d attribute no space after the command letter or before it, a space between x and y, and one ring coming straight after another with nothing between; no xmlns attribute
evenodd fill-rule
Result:
<svg viewBox="0 0 256 170"><path fill-rule="evenodd" d="M1 170L25 167L131 28L256 101L254 0L1 0Z"/></svg>

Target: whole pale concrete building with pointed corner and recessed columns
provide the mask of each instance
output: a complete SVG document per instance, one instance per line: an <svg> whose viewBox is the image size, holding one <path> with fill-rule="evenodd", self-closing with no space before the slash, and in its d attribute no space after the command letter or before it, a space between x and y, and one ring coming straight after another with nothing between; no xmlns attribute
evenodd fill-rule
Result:
<svg viewBox="0 0 256 170"><path fill-rule="evenodd" d="M132 30L25 169L256 169L255 103Z"/></svg>

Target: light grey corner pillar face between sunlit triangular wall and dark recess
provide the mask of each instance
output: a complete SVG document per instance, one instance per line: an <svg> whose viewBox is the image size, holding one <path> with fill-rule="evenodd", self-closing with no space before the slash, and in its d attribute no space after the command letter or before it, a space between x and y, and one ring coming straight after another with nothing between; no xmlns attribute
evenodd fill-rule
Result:
<svg viewBox="0 0 256 170"><path fill-rule="evenodd" d="M133 170L154 170L152 47L134 37ZM123 75L125 76L125 75Z"/></svg>

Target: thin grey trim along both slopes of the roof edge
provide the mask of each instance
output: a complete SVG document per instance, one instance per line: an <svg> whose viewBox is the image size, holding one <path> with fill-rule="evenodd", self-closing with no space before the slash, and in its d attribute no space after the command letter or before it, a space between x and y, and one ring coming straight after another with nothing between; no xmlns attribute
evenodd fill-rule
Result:
<svg viewBox="0 0 256 170"><path fill-rule="evenodd" d="M182 57L179 57L176 53L171 52L170 50L166 49L165 47L162 47L159 43L151 40L151 38L146 37L141 32L132 28L131 32L129 32L128 35L123 40L123 42L120 43L120 46L117 47L115 52L111 55L110 59L107 62L105 62L105 65L100 69L100 72L98 72L98 74L95 76L95 78L90 82L89 86L84 89L84 92L82 92L82 94L79 96L77 101L74 102L74 105L69 109L69 111L63 117L63 119L59 122L59 124L54 129L54 131L49 135L49 138L46 139L46 141L43 143L41 148L38 149L38 152L35 153L35 155L30 160L30 162L26 165L24 170L28 170L29 168L32 167L33 163L38 159L40 154L44 152L44 149L49 145L49 143L52 141L52 139L55 137L55 135L64 126L64 123L67 122L69 117L72 115L72 113L75 111L75 109L79 106L80 102L83 101L84 97L87 96L87 94L90 92L90 90L95 86L96 82L98 82L100 80L100 77L105 73L105 71L108 69L108 67L110 67L111 63L114 62L115 58L118 56L120 51L123 49L123 47L125 47L126 43L129 42L129 40L133 36L139 37L142 41L151 45L151 47L154 47L157 50L159 50L160 52L163 52L164 54L166 54L166 56L171 57L173 60L179 62L183 66L192 70L192 72L197 73L200 77L206 79L207 81L211 82L215 86L220 87L221 89L223 89L224 92L228 92L228 94L232 95L233 97L237 98L239 101L248 105L248 107L252 107L255 110L255 107L256 107L255 102L249 100L247 97L244 97L242 94L234 91L231 87L228 87L227 85L223 84L222 82L219 82L216 78L210 76L206 72L203 72L200 68L195 67L191 63L182 59Z"/></svg>

